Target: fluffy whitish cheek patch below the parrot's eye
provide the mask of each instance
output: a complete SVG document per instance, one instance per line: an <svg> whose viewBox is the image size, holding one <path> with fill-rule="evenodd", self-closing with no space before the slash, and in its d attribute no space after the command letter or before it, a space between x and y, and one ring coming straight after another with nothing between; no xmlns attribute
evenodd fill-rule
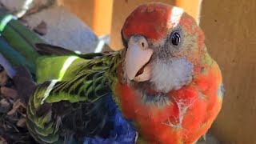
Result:
<svg viewBox="0 0 256 144"><path fill-rule="evenodd" d="M193 75L193 65L185 58L172 58L168 62L157 60L152 65L150 82L159 92L178 90L189 83Z"/></svg>

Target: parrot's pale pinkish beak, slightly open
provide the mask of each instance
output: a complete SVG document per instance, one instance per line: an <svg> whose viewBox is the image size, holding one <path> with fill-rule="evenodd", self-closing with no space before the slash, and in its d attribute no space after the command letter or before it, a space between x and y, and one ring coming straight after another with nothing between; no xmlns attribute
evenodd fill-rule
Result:
<svg viewBox="0 0 256 144"><path fill-rule="evenodd" d="M144 82L150 79L150 66L147 65L153 54L144 37L131 37L126 52L126 73L130 80Z"/></svg>

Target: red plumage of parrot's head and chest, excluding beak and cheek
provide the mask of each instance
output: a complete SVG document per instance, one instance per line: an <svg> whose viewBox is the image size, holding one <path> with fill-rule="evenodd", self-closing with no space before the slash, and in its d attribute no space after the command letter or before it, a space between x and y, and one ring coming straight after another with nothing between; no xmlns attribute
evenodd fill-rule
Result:
<svg viewBox="0 0 256 144"><path fill-rule="evenodd" d="M181 37L184 37L177 41L182 41L182 44L177 44L179 47L166 45L167 42L170 42L168 38L173 34L172 31L175 30L178 30L177 33ZM168 99L166 100L167 104L158 106L157 102L145 103L142 93L140 93L141 91L151 95L162 93L157 90L157 86L155 86L157 84L152 83L151 80L149 80L148 86L140 85L142 82L133 80L124 82L126 74L123 73L122 66L126 63L121 63L119 82L114 93L118 97L124 116L134 121L139 134L148 143L196 142L210 128L221 110L222 75L218 64L210 58L206 51L204 35L194 18L177 7L149 3L138 6L126 18L122 35L127 42L131 37L138 37L137 35L141 35L140 38L147 40L148 49L154 51L154 56L150 58L151 65L149 64L151 71L155 70L152 67L158 65L158 62L162 62L164 65L160 68L163 70L158 71L166 73L164 70L169 69L166 69L165 66L171 66L170 63L177 59L186 59L186 62L193 65L191 79L188 78L185 85L181 84L181 88L165 93ZM130 44L130 46L134 45L136 43ZM130 47L128 46L127 49L129 50ZM142 46L142 50L145 49ZM186 62L180 62L180 64L185 66ZM179 65L176 66L179 67ZM173 68L176 70L175 67ZM170 70L170 72L172 71ZM179 74L176 75L182 78ZM183 77L188 77L188 75L185 74ZM168 83L167 79L163 78L163 81ZM172 80L170 79L170 81ZM173 83L170 82L170 84ZM158 82L158 85L161 85L161 82Z"/></svg>

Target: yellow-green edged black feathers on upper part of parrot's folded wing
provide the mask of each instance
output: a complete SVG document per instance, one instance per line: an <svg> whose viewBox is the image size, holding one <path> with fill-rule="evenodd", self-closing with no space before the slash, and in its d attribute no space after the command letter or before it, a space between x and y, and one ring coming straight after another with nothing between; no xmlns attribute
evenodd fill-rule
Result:
<svg viewBox="0 0 256 144"><path fill-rule="evenodd" d="M72 114L111 93L111 87L118 81L116 69L121 54L119 51L90 60L76 58L61 79L55 74L57 80L38 86L27 108L27 126L38 142L62 143L67 131L74 133L62 128L62 119L68 117L69 111Z"/></svg>

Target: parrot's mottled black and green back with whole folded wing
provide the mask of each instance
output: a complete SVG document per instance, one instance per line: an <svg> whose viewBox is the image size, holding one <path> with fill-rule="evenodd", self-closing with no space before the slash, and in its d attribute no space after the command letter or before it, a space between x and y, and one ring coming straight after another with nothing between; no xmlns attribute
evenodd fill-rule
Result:
<svg viewBox="0 0 256 144"><path fill-rule="evenodd" d="M38 86L27 108L27 126L38 142L74 143L79 138L108 136L114 125L108 101L113 100L111 88L118 81L121 53L78 58L61 80Z"/></svg>

